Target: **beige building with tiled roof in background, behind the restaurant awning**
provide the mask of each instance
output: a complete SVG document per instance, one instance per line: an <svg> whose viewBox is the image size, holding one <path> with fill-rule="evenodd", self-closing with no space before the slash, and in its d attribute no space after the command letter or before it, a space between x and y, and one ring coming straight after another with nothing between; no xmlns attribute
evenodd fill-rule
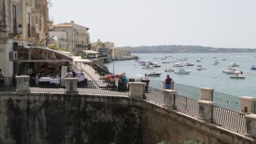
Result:
<svg viewBox="0 0 256 144"><path fill-rule="evenodd" d="M90 40L89 34L87 33L89 28L83 27L79 24L75 24L74 21L69 23L57 24L53 26L53 29L50 29L51 35L59 35L58 39L67 40L61 43L67 51L76 55L78 50L87 50L87 42ZM63 37L63 38L62 38Z"/></svg>

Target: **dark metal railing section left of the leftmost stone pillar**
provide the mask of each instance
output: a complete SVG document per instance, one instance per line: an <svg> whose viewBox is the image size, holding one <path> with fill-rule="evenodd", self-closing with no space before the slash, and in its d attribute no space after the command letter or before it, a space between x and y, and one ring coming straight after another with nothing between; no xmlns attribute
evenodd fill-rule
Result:
<svg viewBox="0 0 256 144"><path fill-rule="evenodd" d="M1 91L16 91L16 77L0 77Z"/></svg>

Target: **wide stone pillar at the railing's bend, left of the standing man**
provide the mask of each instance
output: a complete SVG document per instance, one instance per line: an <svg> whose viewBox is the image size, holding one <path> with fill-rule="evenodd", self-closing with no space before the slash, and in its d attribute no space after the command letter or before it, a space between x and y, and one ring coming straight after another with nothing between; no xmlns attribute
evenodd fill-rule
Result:
<svg viewBox="0 0 256 144"><path fill-rule="evenodd" d="M143 99L143 96L145 95L144 85L146 85L146 83L129 82L130 97Z"/></svg>

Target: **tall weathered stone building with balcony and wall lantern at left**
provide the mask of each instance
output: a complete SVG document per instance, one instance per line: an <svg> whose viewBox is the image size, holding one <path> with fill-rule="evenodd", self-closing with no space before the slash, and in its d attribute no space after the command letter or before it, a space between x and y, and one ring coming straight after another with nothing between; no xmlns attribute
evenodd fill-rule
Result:
<svg viewBox="0 0 256 144"><path fill-rule="evenodd" d="M50 23L47 0L0 0L0 69L5 76L13 76L13 47L45 45Z"/></svg>

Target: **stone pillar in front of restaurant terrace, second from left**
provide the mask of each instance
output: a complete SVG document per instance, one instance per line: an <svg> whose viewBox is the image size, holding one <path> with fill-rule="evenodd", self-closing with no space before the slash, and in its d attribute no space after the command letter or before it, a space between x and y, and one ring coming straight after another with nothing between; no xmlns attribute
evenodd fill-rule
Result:
<svg viewBox="0 0 256 144"><path fill-rule="evenodd" d="M65 78L66 93L77 94L77 78Z"/></svg>

